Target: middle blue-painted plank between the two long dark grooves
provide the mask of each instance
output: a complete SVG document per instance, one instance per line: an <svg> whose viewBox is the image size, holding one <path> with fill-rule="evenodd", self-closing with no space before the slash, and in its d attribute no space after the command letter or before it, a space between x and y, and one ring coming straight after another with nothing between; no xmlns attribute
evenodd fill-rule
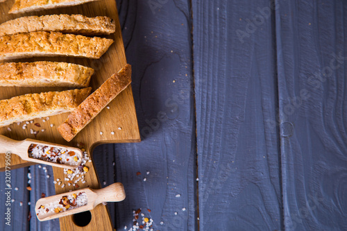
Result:
<svg viewBox="0 0 347 231"><path fill-rule="evenodd" d="M200 230L282 228L269 3L193 2Z"/></svg>

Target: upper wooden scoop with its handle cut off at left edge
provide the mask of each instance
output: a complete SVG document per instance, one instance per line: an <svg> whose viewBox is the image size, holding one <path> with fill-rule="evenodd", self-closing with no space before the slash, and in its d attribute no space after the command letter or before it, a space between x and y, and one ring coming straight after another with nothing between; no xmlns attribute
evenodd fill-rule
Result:
<svg viewBox="0 0 347 231"><path fill-rule="evenodd" d="M31 144L50 146L53 148L64 148L69 151L74 151L77 155L79 155L78 162L76 162L76 165L58 164L55 162L49 162L49 161L29 157L28 148L31 146ZM82 151L78 148L52 144L49 142L41 142L35 139L24 139L23 141L17 141L17 140L10 139L6 136L0 135L0 153L7 153L7 152L10 152L11 154L19 155L19 157L21 157L22 160L35 162L38 164L47 164L51 166L57 166L59 168L65 168L65 169L76 169L81 164L82 156L83 156Z"/></svg>

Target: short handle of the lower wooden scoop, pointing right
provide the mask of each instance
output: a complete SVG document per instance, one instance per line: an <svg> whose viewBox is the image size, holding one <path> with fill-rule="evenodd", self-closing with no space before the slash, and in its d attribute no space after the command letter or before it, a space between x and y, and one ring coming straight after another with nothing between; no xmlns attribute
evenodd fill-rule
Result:
<svg viewBox="0 0 347 231"><path fill-rule="evenodd" d="M97 194L94 206L103 202L118 202L126 198L126 192L122 183L114 183L103 189L94 190Z"/></svg>

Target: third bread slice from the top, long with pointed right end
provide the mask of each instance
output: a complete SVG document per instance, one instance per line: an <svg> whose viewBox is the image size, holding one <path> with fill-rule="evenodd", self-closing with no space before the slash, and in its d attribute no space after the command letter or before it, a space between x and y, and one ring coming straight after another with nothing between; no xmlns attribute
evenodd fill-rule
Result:
<svg viewBox="0 0 347 231"><path fill-rule="evenodd" d="M0 37L0 60L58 55L100 58L112 42L101 37L44 31L5 35Z"/></svg>

